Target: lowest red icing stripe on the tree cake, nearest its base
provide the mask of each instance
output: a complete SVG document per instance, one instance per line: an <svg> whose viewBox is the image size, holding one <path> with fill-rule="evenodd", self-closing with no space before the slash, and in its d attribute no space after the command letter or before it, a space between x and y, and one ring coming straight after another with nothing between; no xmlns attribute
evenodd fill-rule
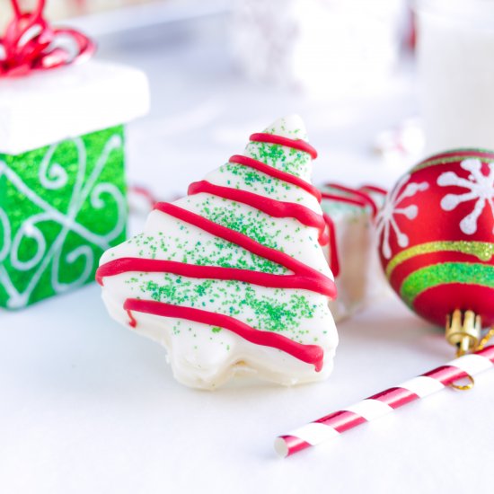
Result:
<svg viewBox="0 0 494 494"><path fill-rule="evenodd" d="M130 317L130 325L135 327L137 322L132 316L132 311L139 313L150 313L163 317L175 317L201 324L219 326L226 330L232 331L241 336L244 340L250 341L255 345L264 347L278 348L289 355L302 360L307 364L313 364L315 370L319 372L322 369L324 352L321 347L316 345L302 345L296 341L290 340L286 336L272 332L255 330L248 324L245 324L234 317L222 313L212 313L191 307L182 307L180 305L163 304L154 300L138 300L128 298L125 301L124 309Z"/></svg>

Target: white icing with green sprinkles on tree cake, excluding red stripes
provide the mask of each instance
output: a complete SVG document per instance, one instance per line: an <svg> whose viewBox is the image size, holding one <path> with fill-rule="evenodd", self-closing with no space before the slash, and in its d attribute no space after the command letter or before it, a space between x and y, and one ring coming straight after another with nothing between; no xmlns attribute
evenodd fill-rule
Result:
<svg viewBox="0 0 494 494"><path fill-rule="evenodd" d="M265 132L306 140L304 124L296 116L277 120ZM310 155L285 146L252 142L244 155L304 179L311 175ZM249 174L245 175L245 172ZM205 180L300 204L322 214L317 200L307 191L242 165L226 163L208 173ZM314 227L305 226L291 217L272 217L254 207L204 192L181 198L173 204L281 250L332 279ZM267 262L238 245L158 210L149 215L143 234L106 251L101 265L122 257L291 274L283 266ZM289 385L320 381L331 374L338 335L327 296L308 290L260 287L231 280L128 272L105 277L102 297L110 315L126 325L129 318L123 305L128 298L163 302L172 297L173 304L231 315L257 330L276 331L296 342L318 345L324 350L322 370L316 372L312 364L277 348L250 343L224 328L133 311L137 321L134 331L167 348L173 374L183 384L215 389L235 375L252 375Z"/></svg>

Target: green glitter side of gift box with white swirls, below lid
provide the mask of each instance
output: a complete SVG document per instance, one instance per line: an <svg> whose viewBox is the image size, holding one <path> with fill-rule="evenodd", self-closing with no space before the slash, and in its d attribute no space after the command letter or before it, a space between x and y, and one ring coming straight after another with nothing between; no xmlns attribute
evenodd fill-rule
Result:
<svg viewBox="0 0 494 494"><path fill-rule="evenodd" d="M0 306L21 308L93 281L125 240L123 127L0 155Z"/></svg>

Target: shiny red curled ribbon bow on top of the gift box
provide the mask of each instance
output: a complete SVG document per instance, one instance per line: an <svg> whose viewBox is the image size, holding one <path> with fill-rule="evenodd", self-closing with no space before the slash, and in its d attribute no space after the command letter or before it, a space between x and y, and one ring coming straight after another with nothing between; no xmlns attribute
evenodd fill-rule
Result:
<svg viewBox="0 0 494 494"><path fill-rule="evenodd" d="M11 4L13 20L0 38L0 77L28 75L93 55L96 46L82 32L49 25L43 17L46 0L39 0L32 12L22 12L18 0Z"/></svg>

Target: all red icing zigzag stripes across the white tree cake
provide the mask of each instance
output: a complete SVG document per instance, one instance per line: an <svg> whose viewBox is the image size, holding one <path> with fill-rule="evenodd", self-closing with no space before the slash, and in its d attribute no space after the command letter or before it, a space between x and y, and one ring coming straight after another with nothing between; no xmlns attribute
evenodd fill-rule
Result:
<svg viewBox="0 0 494 494"><path fill-rule="evenodd" d="M261 142L295 147L296 149L310 153L313 157L317 155L315 154L313 147L309 146L307 143L304 143L304 141L293 141L285 137L278 138L278 136L271 136L269 134L254 134L251 136L251 139L253 138L255 138L255 140L260 140ZM259 172L266 173L271 177L287 181L288 183L306 190L319 201L321 200L321 193L319 190L315 189L312 184L290 173L279 171L266 163L261 163L247 156L234 155L230 159L230 162L242 164L243 166L249 166ZM216 186L207 181L195 182L190 185L190 194L198 192L207 192L218 195L219 197L231 198L232 200L248 204L251 207L256 207L260 209L260 211L264 211L271 216L295 217L304 225L310 225L318 228L320 233L320 242L323 242L323 218L307 207L301 207L300 205L282 201L275 201L273 199L264 198L258 194L253 194L243 190L234 190L227 187ZM145 272L170 272L190 278L234 279L260 286L300 288L325 296L330 296L332 298L336 296L334 281L327 278L316 269L307 266L303 262L292 258L284 252L266 247L254 241L247 235L235 232L234 230L223 225L218 225L203 216L199 216L174 204L157 203L154 205L154 208L169 216L175 217L182 222L194 225L208 234L215 235L216 237L222 238L227 242L235 243L246 251L250 251L255 255L289 269L294 274L272 275L249 269L196 266L170 260L122 258L119 260L112 260L98 269L96 276L100 283L102 283L102 279L104 277L115 276L123 272L138 270ZM208 325L213 324L229 331L234 331L245 340L251 341L251 343L278 348L285 351L289 355L296 357L303 362L313 364L316 371L320 371L322 368L323 350L321 347L296 343L296 341L290 340L287 337L272 331L256 330L248 324L238 321L237 319L225 314L211 313L209 311L193 309L190 307L137 299L128 299L125 302L124 308L128 311L131 325L133 326L135 326L137 322L132 316L131 311L152 313L165 317L177 317Z"/></svg>

